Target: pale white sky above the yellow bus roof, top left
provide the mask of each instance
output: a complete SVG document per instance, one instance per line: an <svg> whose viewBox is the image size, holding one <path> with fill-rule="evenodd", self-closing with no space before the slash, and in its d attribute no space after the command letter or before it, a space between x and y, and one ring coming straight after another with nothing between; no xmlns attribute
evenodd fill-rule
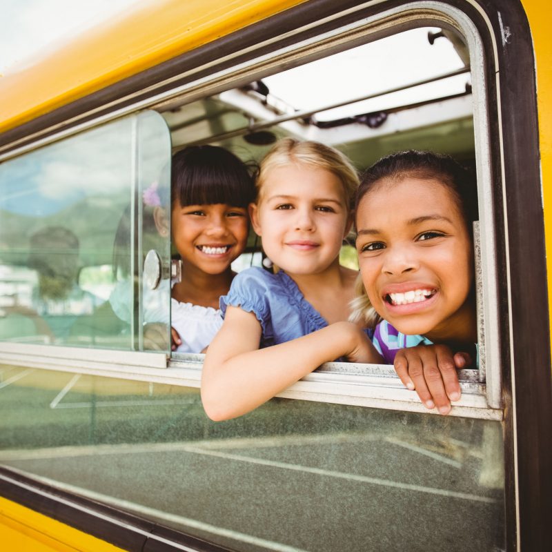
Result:
<svg viewBox="0 0 552 552"><path fill-rule="evenodd" d="M141 0L0 0L0 73Z"/></svg>

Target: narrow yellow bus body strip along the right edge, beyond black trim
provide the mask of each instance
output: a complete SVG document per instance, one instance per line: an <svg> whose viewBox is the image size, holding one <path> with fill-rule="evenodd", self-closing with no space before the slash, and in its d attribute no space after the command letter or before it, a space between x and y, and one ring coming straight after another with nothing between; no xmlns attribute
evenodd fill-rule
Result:
<svg viewBox="0 0 552 552"><path fill-rule="evenodd" d="M552 33L549 0L522 0L535 49L540 161L546 235L546 271L552 274ZM549 312L552 313L552 281L548 280ZM552 337L551 337L552 339Z"/></svg>

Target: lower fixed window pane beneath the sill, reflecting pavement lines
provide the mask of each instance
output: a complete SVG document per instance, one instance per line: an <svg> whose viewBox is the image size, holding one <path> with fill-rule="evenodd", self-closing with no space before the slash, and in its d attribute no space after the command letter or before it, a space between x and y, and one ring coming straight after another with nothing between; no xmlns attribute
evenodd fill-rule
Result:
<svg viewBox="0 0 552 552"><path fill-rule="evenodd" d="M0 371L1 464L230 549L504 548L499 422Z"/></svg>

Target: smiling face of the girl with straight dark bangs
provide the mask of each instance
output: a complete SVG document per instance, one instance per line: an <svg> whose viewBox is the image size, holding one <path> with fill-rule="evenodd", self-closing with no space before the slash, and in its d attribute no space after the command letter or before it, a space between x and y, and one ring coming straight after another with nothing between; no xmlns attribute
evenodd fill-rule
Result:
<svg viewBox="0 0 552 552"><path fill-rule="evenodd" d="M184 266L221 274L244 252L249 232L247 209L227 204L175 204L172 240Z"/></svg>

